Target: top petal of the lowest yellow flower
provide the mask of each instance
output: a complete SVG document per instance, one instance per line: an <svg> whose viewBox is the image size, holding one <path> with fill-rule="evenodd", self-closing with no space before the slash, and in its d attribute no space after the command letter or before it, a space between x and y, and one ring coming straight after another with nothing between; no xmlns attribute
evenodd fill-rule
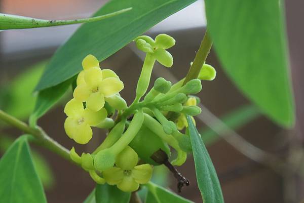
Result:
<svg viewBox="0 0 304 203"><path fill-rule="evenodd" d="M133 169L138 162L138 155L131 147L127 146L116 157L116 166L123 170Z"/></svg>

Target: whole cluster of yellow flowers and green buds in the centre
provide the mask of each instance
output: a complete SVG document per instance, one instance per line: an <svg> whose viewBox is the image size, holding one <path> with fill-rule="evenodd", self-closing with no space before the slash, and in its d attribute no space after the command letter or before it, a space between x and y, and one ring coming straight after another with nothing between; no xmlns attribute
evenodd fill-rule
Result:
<svg viewBox="0 0 304 203"><path fill-rule="evenodd" d="M77 143L90 141L91 127L110 129L92 153L80 156L72 148L71 159L95 182L117 185L127 192L150 180L153 165L181 166L185 162L187 152L192 151L187 131L182 132L188 126L185 116L193 118L201 113L199 99L192 94L201 91L201 80L212 80L216 74L212 66L204 64L197 79L186 82L184 78L172 85L160 77L147 92L154 63L173 65L167 49L174 46L175 40L160 34L155 39L139 36L134 41L146 57L131 105L127 106L119 94L124 84L118 75L110 69L101 70L99 61L88 55L82 62L84 70L77 77L73 99L64 108L68 116L66 134ZM171 148L177 152L175 158L171 157ZM188 185L187 180L182 180L181 184Z"/></svg>

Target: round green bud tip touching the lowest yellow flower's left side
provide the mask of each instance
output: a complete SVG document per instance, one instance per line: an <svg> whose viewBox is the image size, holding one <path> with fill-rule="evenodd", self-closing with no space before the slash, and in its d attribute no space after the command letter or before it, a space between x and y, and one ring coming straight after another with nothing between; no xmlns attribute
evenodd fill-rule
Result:
<svg viewBox="0 0 304 203"><path fill-rule="evenodd" d="M97 171L104 171L114 166L116 154L112 150L103 149L94 157L94 167Z"/></svg>

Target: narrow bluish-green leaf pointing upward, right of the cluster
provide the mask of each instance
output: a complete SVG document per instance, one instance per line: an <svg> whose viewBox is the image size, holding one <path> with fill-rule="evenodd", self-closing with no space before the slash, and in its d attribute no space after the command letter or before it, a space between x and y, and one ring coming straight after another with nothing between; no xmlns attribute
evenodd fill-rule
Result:
<svg viewBox="0 0 304 203"><path fill-rule="evenodd" d="M188 115L187 122L193 149L197 182L203 202L222 203L224 202L222 191L209 153L191 117Z"/></svg>

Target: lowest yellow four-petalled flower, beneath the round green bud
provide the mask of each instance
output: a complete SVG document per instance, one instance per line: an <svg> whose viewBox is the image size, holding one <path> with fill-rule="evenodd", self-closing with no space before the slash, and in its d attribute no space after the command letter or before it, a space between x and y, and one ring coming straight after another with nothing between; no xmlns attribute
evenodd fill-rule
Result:
<svg viewBox="0 0 304 203"><path fill-rule="evenodd" d="M102 172L103 178L109 185L117 187L125 192L136 191L139 184L149 182L152 176L152 168L148 164L137 165L138 155L127 146L116 159L116 167Z"/></svg>

